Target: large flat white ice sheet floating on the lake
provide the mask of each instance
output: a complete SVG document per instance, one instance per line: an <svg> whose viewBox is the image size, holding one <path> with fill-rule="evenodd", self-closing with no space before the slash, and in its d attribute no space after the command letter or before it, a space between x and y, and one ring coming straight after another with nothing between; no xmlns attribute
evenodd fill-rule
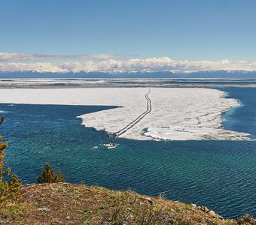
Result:
<svg viewBox="0 0 256 225"><path fill-rule="evenodd" d="M224 130L221 114L236 107L215 89L153 88L2 89L2 103L102 105L119 108L80 115L82 124L128 139L249 139ZM150 102L149 102L150 100ZM151 109L148 110L148 104ZM118 133L118 130L124 131Z"/></svg>

